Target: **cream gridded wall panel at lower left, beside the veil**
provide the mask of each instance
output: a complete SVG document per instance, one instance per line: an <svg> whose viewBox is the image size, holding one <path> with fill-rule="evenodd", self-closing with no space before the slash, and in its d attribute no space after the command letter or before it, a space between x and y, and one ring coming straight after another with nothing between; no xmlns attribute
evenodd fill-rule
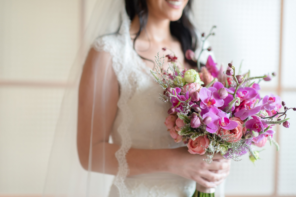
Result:
<svg viewBox="0 0 296 197"><path fill-rule="evenodd" d="M42 193L63 93L0 88L0 193Z"/></svg>

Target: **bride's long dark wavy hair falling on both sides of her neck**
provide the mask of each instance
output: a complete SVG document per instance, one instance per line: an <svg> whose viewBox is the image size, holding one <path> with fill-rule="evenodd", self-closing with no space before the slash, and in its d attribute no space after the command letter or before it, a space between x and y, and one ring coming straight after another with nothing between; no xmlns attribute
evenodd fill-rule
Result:
<svg viewBox="0 0 296 197"><path fill-rule="evenodd" d="M131 20L138 15L140 20L140 29L133 40L133 47L135 48L136 39L139 37L142 30L145 29L148 19L148 7L146 0L125 0L126 12ZM182 51L185 56L185 52L188 49L195 50L197 48L197 35L195 28L189 20L189 12L191 11L192 0L188 1L188 4L183 10L181 18L177 21L170 22L170 33L175 36L179 42L181 42ZM141 57L143 58L143 57ZM146 59L146 58L143 58ZM148 59L146 59L148 60ZM152 61L152 60L149 60ZM196 63L192 60L187 60L190 65L196 66Z"/></svg>

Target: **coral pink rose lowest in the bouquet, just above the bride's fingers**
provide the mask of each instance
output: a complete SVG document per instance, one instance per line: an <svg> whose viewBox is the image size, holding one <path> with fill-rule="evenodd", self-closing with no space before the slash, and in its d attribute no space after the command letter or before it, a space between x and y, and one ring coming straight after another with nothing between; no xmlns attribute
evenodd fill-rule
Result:
<svg viewBox="0 0 296 197"><path fill-rule="evenodd" d="M189 139L187 147L188 152L191 154L205 154L205 149L209 147L210 140L207 138L207 135L197 137L194 141Z"/></svg>

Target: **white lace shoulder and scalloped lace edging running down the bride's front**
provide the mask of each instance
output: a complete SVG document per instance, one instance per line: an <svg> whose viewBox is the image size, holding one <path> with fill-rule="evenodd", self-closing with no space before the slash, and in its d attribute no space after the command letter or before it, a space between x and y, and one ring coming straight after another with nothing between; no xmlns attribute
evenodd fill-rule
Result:
<svg viewBox="0 0 296 197"><path fill-rule="evenodd" d="M128 127L132 122L132 113L128 107L128 100L133 95L136 89L136 81L134 78L133 68L129 66L129 59L132 58L129 36L129 19L126 11L121 14L122 24L119 32L97 38L93 43L93 48L96 51L109 52L112 57L112 67L117 76L120 85L120 97L118 100L118 108L124 111L125 115L118 127L118 133L121 137L120 149L115 153L118 160L118 173L115 176L113 184L117 186L120 197L128 197L129 190L124 181L129 173L128 163L126 161L126 153L131 148L131 137L128 132Z"/></svg>

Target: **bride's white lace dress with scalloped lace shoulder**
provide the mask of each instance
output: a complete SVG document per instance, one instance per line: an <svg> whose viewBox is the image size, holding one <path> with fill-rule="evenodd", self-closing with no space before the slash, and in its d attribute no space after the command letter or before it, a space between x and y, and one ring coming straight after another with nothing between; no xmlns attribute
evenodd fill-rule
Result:
<svg viewBox="0 0 296 197"><path fill-rule="evenodd" d="M96 39L97 51L109 52L112 66L120 85L118 114L111 136L121 145L116 152L119 172L110 191L110 197L191 197L195 182L171 173L153 173L126 177L126 153L132 148L164 149L184 146L175 143L165 127L169 105L160 101L163 89L153 80L150 69L133 50L129 34L130 20L122 14L117 34Z"/></svg>

